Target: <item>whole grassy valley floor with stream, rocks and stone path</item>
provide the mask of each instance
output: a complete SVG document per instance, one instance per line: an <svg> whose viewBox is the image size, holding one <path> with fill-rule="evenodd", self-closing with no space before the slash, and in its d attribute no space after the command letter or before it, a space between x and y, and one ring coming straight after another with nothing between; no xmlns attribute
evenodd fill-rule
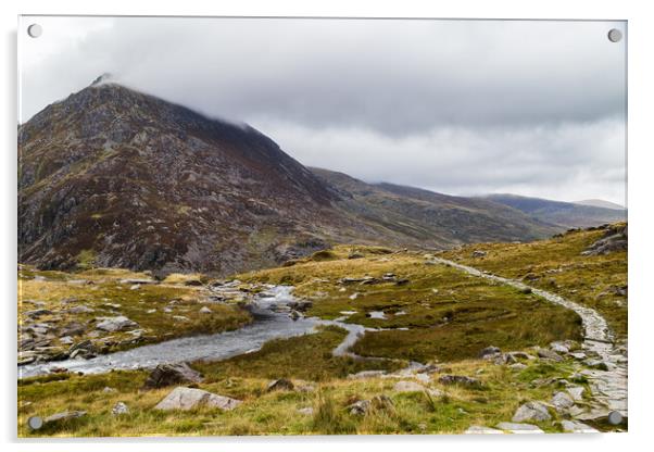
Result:
<svg viewBox="0 0 654 452"><path fill-rule="evenodd" d="M337 244L227 278L22 265L18 434L625 430L606 419L627 418L626 240L617 224L448 251ZM265 322L277 337L228 350Z"/></svg>

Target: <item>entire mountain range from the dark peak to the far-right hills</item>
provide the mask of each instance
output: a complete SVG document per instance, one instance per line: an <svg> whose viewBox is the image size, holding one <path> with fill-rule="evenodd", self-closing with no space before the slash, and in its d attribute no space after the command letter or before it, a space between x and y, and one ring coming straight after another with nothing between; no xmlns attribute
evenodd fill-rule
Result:
<svg viewBox="0 0 654 452"><path fill-rule="evenodd" d="M227 275L338 242L525 241L619 216L307 168L250 126L103 81L21 125L18 152L18 259L41 268Z"/></svg>

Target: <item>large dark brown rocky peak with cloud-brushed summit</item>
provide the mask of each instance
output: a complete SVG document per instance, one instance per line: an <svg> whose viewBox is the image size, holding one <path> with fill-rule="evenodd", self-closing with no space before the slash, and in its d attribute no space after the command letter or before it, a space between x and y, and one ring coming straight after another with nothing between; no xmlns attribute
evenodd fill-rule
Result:
<svg viewBox="0 0 654 452"><path fill-rule="evenodd" d="M279 244L322 248L313 225L339 225L334 194L267 137L118 85L18 136L22 262L226 273L277 261Z"/></svg>

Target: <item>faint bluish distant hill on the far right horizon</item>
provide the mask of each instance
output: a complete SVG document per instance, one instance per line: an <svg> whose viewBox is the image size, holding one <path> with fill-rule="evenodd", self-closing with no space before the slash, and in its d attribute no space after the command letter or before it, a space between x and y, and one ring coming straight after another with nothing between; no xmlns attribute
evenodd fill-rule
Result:
<svg viewBox="0 0 654 452"><path fill-rule="evenodd" d="M482 199L491 200L517 209L532 218L562 227L591 227L605 223L624 222L626 210L581 205L573 202L552 201L516 194L489 194Z"/></svg>

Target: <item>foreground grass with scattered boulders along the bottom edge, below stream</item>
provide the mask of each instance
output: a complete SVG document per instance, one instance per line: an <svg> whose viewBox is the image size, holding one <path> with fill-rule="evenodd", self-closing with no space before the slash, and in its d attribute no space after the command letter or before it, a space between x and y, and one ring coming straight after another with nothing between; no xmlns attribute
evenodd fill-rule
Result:
<svg viewBox="0 0 654 452"><path fill-rule="evenodd" d="M324 330L320 342L328 347L335 330ZM306 339L306 338L305 338ZM287 340L285 349L294 355L297 347L303 348L299 338ZM319 353L317 353L319 355ZM248 363L254 368L274 366L271 355L262 350ZM266 363L267 362L267 363ZM217 363L216 366L219 366ZM239 367L232 360L223 362L231 369ZM241 363L244 365L244 362ZM18 435L36 436L214 436L214 435L332 435L332 434L460 434L470 425L493 426L507 420L527 400L549 400L556 391L555 385L534 387L530 381L538 377L567 377L568 363L544 366L527 362L525 371L516 372L489 362L467 360L454 363L448 369L461 375L477 375L483 382L479 388L442 386L438 374L427 387L444 392L431 397L423 392L400 393L393 390L394 378L349 380L331 377L315 381L311 391L266 392L269 379L265 373L235 377L215 375L198 385L199 388L243 401L231 412L200 407L189 412L158 412L152 407L172 388L140 390L143 372L112 372L103 375L58 376L30 378L18 385ZM200 364L194 367L209 371ZM236 366L236 367L234 367ZM280 367L277 367L279 371ZM301 384L305 377L301 365L284 368L287 376ZM247 375L247 374L244 374ZM523 377L523 375L525 377ZM212 374L212 376L214 376ZM104 392L103 388L114 388ZM389 410L377 409L361 416L350 414L347 406L357 400L375 395L390 397ZM111 407L124 402L129 414L113 416ZM313 409L313 414L302 414L300 409ZM33 415L50 415L65 410L84 410L87 415L68 423L49 426L30 432L26 420ZM556 415L553 413L556 418ZM538 423L546 431L557 431L552 422Z"/></svg>

